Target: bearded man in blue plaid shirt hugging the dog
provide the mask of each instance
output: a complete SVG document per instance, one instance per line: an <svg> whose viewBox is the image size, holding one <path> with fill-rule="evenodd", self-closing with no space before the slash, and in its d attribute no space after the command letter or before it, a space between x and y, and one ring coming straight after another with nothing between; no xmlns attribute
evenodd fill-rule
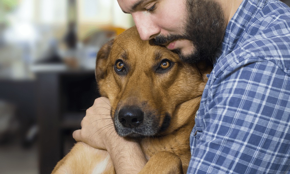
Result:
<svg viewBox="0 0 290 174"><path fill-rule="evenodd" d="M143 40L214 68L190 136L188 173L290 172L290 9L275 0L118 0ZM117 173L147 160L138 143L104 125L96 99L73 137L107 149ZM107 116L104 116L107 115ZM98 120L98 121L96 121ZM94 124L92 124L93 121ZM95 130L103 129L100 135Z"/></svg>

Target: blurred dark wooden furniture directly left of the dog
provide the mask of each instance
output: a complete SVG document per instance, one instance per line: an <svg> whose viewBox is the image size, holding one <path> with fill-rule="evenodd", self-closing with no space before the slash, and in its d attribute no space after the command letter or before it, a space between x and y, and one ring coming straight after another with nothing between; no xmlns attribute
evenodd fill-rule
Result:
<svg viewBox="0 0 290 174"><path fill-rule="evenodd" d="M66 155L65 140L80 128L86 109L99 93L93 70L39 71L36 75L39 170L46 174Z"/></svg>

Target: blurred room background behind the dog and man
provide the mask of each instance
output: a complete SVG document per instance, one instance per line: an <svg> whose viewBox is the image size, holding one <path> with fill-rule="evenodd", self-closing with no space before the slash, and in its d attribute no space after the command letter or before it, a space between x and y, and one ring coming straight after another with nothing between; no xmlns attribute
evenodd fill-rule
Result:
<svg viewBox="0 0 290 174"><path fill-rule="evenodd" d="M99 97L98 50L133 25L116 0L0 0L0 173L51 173Z"/></svg>

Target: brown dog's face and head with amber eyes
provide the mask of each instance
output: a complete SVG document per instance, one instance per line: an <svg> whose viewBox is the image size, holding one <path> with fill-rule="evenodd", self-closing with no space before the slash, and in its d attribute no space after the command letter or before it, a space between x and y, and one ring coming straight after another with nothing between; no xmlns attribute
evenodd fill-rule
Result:
<svg viewBox="0 0 290 174"><path fill-rule="evenodd" d="M174 112L202 95L204 74L165 47L142 41L135 27L108 42L97 55L99 91L109 98L115 129L123 137L164 135L181 126L177 122L187 116L177 118Z"/></svg>

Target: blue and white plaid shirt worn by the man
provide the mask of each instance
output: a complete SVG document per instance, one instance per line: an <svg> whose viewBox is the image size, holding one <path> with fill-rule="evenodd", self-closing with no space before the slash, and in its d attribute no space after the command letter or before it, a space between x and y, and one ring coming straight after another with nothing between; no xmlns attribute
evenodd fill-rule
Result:
<svg viewBox="0 0 290 174"><path fill-rule="evenodd" d="M290 8L244 0L190 136L188 173L290 173Z"/></svg>

